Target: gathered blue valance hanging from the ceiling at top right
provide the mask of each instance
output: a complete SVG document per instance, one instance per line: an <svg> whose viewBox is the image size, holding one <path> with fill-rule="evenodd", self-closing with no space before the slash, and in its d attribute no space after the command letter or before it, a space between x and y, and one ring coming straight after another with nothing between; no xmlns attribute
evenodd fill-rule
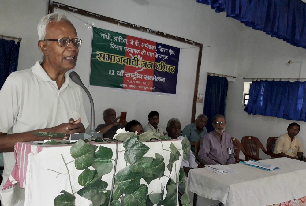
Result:
<svg viewBox="0 0 306 206"><path fill-rule="evenodd" d="M306 4L301 0L197 0L272 37L306 48Z"/></svg>

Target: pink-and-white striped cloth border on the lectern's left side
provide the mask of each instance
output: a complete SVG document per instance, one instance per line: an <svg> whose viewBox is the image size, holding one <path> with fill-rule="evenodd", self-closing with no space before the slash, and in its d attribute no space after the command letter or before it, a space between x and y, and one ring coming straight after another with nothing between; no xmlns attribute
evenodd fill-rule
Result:
<svg viewBox="0 0 306 206"><path fill-rule="evenodd" d="M66 145L46 145L35 144L33 142L17 142L15 144L14 156L16 159L14 169L9 176L9 179L4 184L2 190L15 186L18 182L21 188L25 188L27 167L28 167L28 154L39 153L45 147L58 147Z"/></svg>

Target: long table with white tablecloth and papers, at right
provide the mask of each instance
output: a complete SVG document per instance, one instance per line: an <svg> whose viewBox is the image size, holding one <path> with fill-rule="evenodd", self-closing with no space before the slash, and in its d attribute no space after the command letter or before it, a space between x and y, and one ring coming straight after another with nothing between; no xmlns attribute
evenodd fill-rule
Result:
<svg viewBox="0 0 306 206"><path fill-rule="evenodd" d="M194 193L201 196L197 204L202 206L219 201L226 206L264 206L306 195L305 162L285 157L259 162L279 169L266 171L245 164L233 164L227 166L239 173L217 174L205 168L190 170L186 193L191 198Z"/></svg>

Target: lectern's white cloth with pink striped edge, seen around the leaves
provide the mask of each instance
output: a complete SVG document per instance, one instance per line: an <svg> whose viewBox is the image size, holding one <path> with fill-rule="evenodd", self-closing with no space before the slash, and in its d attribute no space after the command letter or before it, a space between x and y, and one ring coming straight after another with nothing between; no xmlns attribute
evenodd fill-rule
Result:
<svg viewBox="0 0 306 206"><path fill-rule="evenodd" d="M144 142L150 150L144 155L149 157L155 157L155 153L164 155L164 163L167 165L169 163L170 152L167 152L164 149L170 150L170 144L173 143L181 154L179 160L176 161L176 164L173 165L173 172L175 171L179 174L179 169L182 160L181 149L181 140L170 140L170 141L152 141ZM99 146L99 144L97 144ZM115 143L106 143L101 144L104 147L109 147L113 150L113 159L116 155L116 144ZM67 169L63 162L62 156L65 159L65 162L68 163L74 159L70 155L69 145L39 145L29 142L16 143L15 144L15 159L16 164L11 174L10 180L5 184L5 187L1 193L6 195L8 201L6 206L14 204L14 202L21 200L25 201L25 206L53 206L54 198L61 194L62 190L66 190L71 193L71 187L69 183L68 175L58 175L59 173L67 173ZM118 142L118 151L124 150L122 142ZM124 152L118 154L118 163L116 173L123 169L127 163L124 160ZM72 177L72 187L74 192L82 188L77 182L77 177L83 170L77 170L74 166L74 163L67 165L69 172ZM114 167L114 165L113 165ZM48 170L49 169L49 170ZM92 168L93 169L93 168ZM54 170L54 171L51 171ZM114 170L114 168L113 168ZM111 189L111 180L113 175L113 170L103 175L102 180L108 182L108 187L106 189ZM175 171L174 171L175 170ZM169 176L170 172L166 169L164 172L165 175ZM175 176L175 175L174 175ZM172 177L175 179L175 177ZM153 180L149 185L149 193L160 192L161 185L166 185L168 178L161 178ZM140 184L147 183L141 179ZM21 189L20 187L24 188ZM85 198L76 195L76 206L78 205L90 205L91 201Z"/></svg>

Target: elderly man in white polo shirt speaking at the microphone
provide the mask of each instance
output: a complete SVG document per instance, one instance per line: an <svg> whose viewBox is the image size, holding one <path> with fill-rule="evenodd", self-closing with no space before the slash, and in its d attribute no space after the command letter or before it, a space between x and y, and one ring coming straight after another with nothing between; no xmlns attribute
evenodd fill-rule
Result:
<svg viewBox="0 0 306 206"><path fill-rule="evenodd" d="M76 29L65 15L52 13L43 17L37 30L43 61L11 73L0 91L0 152L4 152L1 188L14 167L16 142L48 139L34 135L35 131L66 133L67 138L85 132L88 126L81 88L67 73L76 66L82 43ZM13 190L1 191L2 205L24 204L23 189L15 186Z"/></svg>

